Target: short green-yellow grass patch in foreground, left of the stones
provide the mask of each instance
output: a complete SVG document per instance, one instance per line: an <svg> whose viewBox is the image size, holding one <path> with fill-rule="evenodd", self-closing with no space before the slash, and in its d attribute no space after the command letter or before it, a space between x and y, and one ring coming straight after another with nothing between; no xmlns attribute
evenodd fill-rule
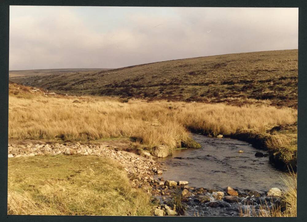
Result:
<svg viewBox="0 0 307 222"><path fill-rule="evenodd" d="M151 215L150 197L126 172L97 156L9 160L8 214Z"/></svg>

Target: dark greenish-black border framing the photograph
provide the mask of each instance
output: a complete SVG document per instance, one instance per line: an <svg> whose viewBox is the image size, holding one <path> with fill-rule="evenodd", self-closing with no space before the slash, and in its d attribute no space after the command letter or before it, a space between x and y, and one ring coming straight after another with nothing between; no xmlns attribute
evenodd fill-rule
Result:
<svg viewBox="0 0 307 222"><path fill-rule="evenodd" d="M257 218L257 217L154 217L154 216L18 216L7 215L7 144L8 144L8 85L9 85L9 6L10 5L33 5L33 6L165 6L165 7L295 7L299 8L299 31L298 31L298 157L297 157L297 217L284 218ZM0 220L1 221L307 221L306 209L307 192L304 185L307 180L306 156L304 146L307 144L307 51L306 51L306 23L307 7L304 1L99 1L99 0L6 0L0 3Z"/></svg>

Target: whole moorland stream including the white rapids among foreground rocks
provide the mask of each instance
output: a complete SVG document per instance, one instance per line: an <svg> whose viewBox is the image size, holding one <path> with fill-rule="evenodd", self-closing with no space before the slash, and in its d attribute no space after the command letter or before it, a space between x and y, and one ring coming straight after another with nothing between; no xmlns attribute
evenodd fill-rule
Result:
<svg viewBox="0 0 307 222"><path fill-rule="evenodd" d="M255 149L247 142L230 138L193 134L193 139L200 143L201 148L174 150L172 156L157 160L167 170L163 172L163 178L174 181L185 180L189 182L188 186L203 187L207 190L223 191L227 186L231 186L243 196L239 198L239 203L220 200L215 207L208 207L209 203L199 204L192 195L186 199L188 207L185 216L194 216L195 212L200 216L238 216L239 205L244 209L250 207L248 205L254 201L253 203L259 207L261 198L262 202L268 200L266 192L270 188L277 187L283 190L282 176L285 173L275 169L270 164L268 156L255 156L256 152L266 154L266 151ZM243 153L239 153L239 150ZM248 194L249 191L256 191L260 196L255 198Z"/></svg>

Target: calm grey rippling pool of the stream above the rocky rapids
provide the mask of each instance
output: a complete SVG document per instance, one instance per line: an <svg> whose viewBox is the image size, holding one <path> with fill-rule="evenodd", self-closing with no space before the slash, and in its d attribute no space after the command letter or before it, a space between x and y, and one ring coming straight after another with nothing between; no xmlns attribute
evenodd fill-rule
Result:
<svg viewBox="0 0 307 222"><path fill-rule="evenodd" d="M283 188L283 172L276 170L268 157L256 157L259 150L250 144L229 138L212 138L193 134L200 149L176 150L173 156L159 158L167 171L164 179L187 180L189 186L263 192L271 187ZM243 153L238 153L243 150ZM265 151L260 151L265 152Z"/></svg>

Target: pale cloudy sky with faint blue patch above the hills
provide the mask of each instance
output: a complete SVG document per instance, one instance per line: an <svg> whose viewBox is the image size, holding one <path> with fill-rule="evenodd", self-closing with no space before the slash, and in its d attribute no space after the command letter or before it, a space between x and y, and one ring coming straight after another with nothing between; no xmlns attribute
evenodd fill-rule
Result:
<svg viewBox="0 0 307 222"><path fill-rule="evenodd" d="M10 70L298 48L298 8L10 6Z"/></svg>

